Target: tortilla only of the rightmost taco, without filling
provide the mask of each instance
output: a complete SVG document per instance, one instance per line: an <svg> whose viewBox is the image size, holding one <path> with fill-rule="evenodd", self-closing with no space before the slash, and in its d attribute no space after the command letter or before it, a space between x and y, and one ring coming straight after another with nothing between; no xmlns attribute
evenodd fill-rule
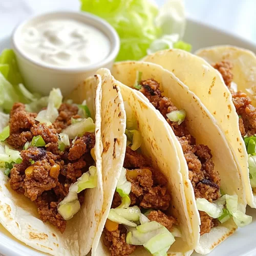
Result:
<svg viewBox="0 0 256 256"><path fill-rule="evenodd" d="M245 89L253 86L253 81L256 79L256 60L252 52L220 46L198 51L197 54L207 59L210 64L230 57L234 64L234 82L238 84L238 89L246 92ZM182 50L168 50L147 56L145 60L173 72L190 91L200 98L214 116L238 165L247 203L250 207L256 208L256 195L252 194L250 186L248 155L239 130L239 117L233 105L232 96L221 74L201 57Z"/></svg>

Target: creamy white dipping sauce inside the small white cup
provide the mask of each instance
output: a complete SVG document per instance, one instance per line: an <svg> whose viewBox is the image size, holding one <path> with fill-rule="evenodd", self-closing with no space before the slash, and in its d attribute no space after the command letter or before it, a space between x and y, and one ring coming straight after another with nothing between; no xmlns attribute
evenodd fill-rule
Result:
<svg viewBox="0 0 256 256"><path fill-rule="evenodd" d="M110 40L100 30L73 19L53 19L26 26L18 42L31 59L55 67L79 68L109 55Z"/></svg>

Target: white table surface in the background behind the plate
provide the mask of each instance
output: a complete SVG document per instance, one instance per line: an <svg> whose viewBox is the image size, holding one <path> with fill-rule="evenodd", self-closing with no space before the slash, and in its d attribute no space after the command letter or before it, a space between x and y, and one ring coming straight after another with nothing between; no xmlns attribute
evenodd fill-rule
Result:
<svg viewBox="0 0 256 256"><path fill-rule="evenodd" d="M94 0L92 0L94 1ZM155 0L161 5L164 0ZM184 0L188 17L240 35L256 44L255 0ZM0 39L23 19L41 12L79 10L79 0L0 0Z"/></svg>

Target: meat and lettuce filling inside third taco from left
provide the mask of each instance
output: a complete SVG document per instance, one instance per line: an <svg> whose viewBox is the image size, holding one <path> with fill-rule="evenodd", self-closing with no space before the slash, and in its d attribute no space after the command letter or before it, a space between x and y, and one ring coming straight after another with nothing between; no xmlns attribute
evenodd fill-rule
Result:
<svg viewBox="0 0 256 256"><path fill-rule="evenodd" d="M251 217L238 210L237 195L221 195L221 179L212 161L211 151L208 146L197 144L190 135L185 110L178 110L170 98L162 95L157 81L140 81L138 74L134 88L146 96L163 115L182 146L200 214L200 234L209 233L212 227L226 222L230 217L240 227L250 223Z"/></svg>

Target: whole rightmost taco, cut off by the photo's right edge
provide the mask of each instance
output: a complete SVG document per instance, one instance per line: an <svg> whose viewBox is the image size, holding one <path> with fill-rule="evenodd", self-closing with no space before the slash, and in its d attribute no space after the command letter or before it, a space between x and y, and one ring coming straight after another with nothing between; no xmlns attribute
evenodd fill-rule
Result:
<svg viewBox="0 0 256 256"><path fill-rule="evenodd" d="M254 162L249 163L250 173L252 173L249 176L248 153L243 141L243 136L246 134L248 137L254 135L252 126L254 118L249 109L253 109L253 105L255 105L253 93L256 69L255 55L250 51L230 46L203 49L198 51L197 55L200 57L181 50L168 50L147 56L145 60L172 71L188 86L189 90L200 98L214 116L227 138L234 160L237 162L245 184L247 203L255 208L256 196L252 191L255 185L252 175L254 174ZM241 91L243 94L235 91ZM245 94L250 99L246 98ZM241 101L242 104L237 104L237 101ZM248 111L240 115L239 113L246 108ZM246 141L249 139L247 138ZM249 153L253 152L249 150Z"/></svg>

